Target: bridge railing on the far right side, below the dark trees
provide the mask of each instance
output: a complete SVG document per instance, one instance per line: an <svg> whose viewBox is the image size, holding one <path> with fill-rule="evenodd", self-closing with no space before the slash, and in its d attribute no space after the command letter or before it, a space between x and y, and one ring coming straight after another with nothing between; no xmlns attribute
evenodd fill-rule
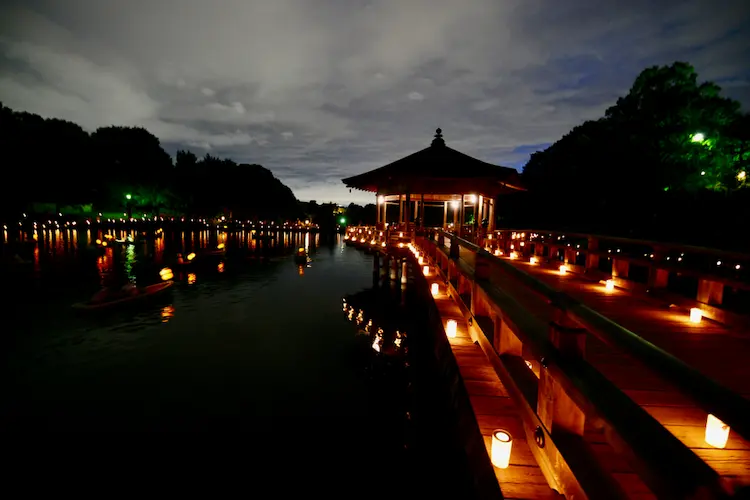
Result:
<svg viewBox="0 0 750 500"><path fill-rule="evenodd" d="M699 307L703 315L725 323L750 327L750 318L738 310L750 307L750 254L674 243L614 236L543 230L498 230L477 241L490 251L505 255L535 255L559 260L572 272L594 279L611 278L618 287L648 291L685 307ZM644 271L638 276L638 271ZM672 286L686 278L686 290ZM736 298L734 307L727 292ZM735 293L737 292L737 293ZM745 294L744 297L739 297ZM731 300L729 300L731 302ZM732 311L734 309L734 312Z"/></svg>

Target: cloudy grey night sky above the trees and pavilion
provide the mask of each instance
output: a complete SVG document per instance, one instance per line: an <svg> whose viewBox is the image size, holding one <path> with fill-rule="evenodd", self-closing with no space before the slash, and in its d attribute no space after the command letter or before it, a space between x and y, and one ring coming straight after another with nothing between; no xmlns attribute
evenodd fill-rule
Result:
<svg viewBox="0 0 750 500"><path fill-rule="evenodd" d="M0 100L270 168L301 200L429 145L521 168L646 66L750 105L747 0L0 0ZM372 199L371 199L372 198Z"/></svg>

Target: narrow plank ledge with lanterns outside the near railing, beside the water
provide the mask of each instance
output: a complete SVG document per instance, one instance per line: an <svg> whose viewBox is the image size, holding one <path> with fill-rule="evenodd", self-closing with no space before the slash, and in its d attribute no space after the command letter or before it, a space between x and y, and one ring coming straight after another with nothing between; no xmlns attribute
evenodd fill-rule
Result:
<svg viewBox="0 0 750 500"><path fill-rule="evenodd" d="M520 412L481 347L471 341L468 325L458 305L446 294L440 294L435 302L443 325L449 319L455 319L458 323L457 336L449 341L469 393L479 429L484 437L488 457L490 436L494 429L507 429L513 436L510 466L507 469L494 468L503 497L506 499L561 498L549 487L539 465L534 460L526 442Z"/></svg>

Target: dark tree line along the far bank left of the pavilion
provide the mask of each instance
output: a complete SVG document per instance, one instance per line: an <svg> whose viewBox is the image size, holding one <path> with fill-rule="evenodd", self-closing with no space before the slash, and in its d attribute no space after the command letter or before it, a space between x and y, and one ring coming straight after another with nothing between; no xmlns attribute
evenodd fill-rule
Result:
<svg viewBox="0 0 750 500"><path fill-rule="evenodd" d="M143 128L88 133L0 104L0 141L7 158L0 197L5 216L32 211L35 203L259 219L302 215L292 191L268 169L189 151L179 151L173 162Z"/></svg>

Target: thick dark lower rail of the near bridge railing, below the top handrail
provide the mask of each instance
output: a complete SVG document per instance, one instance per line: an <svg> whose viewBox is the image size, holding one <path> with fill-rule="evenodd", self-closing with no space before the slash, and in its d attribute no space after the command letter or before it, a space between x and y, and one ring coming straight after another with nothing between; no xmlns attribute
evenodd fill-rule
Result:
<svg viewBox="0 0 750 500"><path fill-rule="evenodd" d="M500 294L503 313L514 323L524 325L521 332L542 366L584 413L604 421L611 429L608 434L631 450L636 458L636 471L656 495L665 498L698 498L705 494L708 494L706 498L729 497L716 471L648 412L585 360L562 355L550 341L541 320L530 318L516 299L488 280L478 280L477 284L491 287L491 297ZM665 456L670 458L665 460Z"/></svg>

